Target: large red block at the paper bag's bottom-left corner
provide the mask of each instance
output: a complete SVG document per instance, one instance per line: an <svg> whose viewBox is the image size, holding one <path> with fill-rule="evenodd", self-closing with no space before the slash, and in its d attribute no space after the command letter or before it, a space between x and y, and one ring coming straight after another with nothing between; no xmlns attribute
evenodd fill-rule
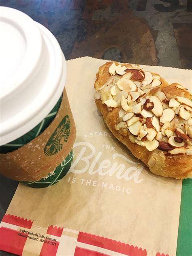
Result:
<svg viewBox="0 0 192 256"><path fill-rule="evenodd" d="M21 237L23 235L23 237ZM0 250L21 255L28 235L10 228L0 228Z"/></svg>

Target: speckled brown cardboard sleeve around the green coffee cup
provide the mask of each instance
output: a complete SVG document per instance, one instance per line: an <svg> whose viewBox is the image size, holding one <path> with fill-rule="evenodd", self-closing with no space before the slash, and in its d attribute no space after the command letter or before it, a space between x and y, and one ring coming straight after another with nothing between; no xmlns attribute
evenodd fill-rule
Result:
<svg viewBox="0 0 192 256"><path fill-rule="evenodd" d="M0 154L0 173L19 181L42 179L70 153L75 135L75 123L64 89L60 109L53 122L23 147Z"/></svg>

